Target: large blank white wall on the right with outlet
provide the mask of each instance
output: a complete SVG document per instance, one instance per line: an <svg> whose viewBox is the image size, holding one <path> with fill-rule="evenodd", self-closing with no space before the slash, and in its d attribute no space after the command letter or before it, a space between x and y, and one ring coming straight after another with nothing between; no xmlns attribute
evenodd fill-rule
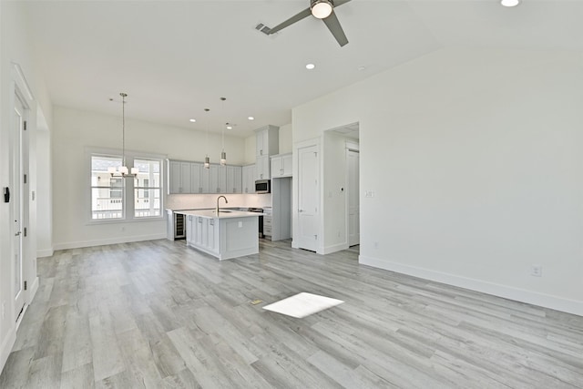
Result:
<svg viewBox="0 0 583 389"><path fill-rule="evenodd" d="M439 51L294 108L293 139L360 123L362 263L583 315L581 64Z"/></svg>

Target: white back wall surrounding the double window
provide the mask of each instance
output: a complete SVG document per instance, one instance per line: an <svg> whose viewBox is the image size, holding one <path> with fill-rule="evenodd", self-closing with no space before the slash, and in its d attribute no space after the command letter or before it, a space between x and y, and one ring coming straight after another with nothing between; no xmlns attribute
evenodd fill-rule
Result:
<svg viewBox="0 0 583 389"><path fill-rule="evenodd" d="M244 139L225 137L228 163L244 162ZM121 118L55 107L53 156L53 246L55 250L164 238L164 220L88 225L87 147L120 148ZM126 148L167 155L169 159L210 162L220 159L220 134L172 128L126 119Z"/></svg>

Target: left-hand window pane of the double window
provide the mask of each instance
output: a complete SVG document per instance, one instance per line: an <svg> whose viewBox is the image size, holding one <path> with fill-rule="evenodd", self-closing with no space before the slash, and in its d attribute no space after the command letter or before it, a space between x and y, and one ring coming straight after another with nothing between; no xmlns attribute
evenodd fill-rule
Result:
<svg viewBox="0 0 583 389"><path fill-rule="evenodd" d="M120 166L120 158L91 157L91 219L123 218L123 179L111 177L107 172L109 167Z"/></svg>

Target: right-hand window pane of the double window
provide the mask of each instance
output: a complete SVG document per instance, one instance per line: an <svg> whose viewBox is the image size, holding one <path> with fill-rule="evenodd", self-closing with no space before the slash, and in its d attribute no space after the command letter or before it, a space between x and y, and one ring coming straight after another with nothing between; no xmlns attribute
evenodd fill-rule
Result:
<svg viewBox="0 0 583 389"><path fill-rule="evenodd" d="M160 216L160 161L134 159L134 167L138 168L138 176L134 180L134 216Z"/></svg>

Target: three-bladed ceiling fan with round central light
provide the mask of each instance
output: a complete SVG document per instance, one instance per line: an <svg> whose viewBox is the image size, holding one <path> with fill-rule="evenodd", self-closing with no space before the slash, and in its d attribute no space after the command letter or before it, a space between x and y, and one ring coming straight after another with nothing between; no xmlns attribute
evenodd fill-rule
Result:
<svg viewBox="0 0 583 389"><path fill-rule="evenodd" d="M279 25L270 28L269 30L266 29L263 32L270 36L271 34L275 34L287 26L291 26L294 23L299 22L309 15L313 15L317 19L322 19L322 22L324 22L324 24L328 27L332 33L332 36L336 38L338 44L340 46L344 46L348 43L348 39L346 38L346 35L344 35L343 27L340 26L338 17L336 17L336 14L334 13L334 8L339 5L348 3L349 1L350 0L310 0L310 6L308 8L304 9L297 15L293 15L285 22L282 22Z"/></svg>

